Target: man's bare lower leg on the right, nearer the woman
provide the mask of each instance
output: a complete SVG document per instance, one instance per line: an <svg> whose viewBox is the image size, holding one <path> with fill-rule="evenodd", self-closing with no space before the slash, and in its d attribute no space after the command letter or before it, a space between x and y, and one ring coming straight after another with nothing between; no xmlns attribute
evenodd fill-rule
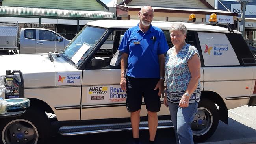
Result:
<svg viewBox="0 0 256 144"><path fill-rule="evenodd" d="M148 111L148 128L149 128L150 141L155 141L157 125L158 125L157 112Z"/></svg>

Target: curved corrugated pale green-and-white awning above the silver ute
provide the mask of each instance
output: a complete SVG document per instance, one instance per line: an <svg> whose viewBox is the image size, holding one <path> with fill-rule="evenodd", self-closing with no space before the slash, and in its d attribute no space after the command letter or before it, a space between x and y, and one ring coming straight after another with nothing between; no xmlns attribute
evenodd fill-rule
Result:
<svg viewBox="0 0 256 144"><path fill-rule="evenodd" d="M48 17L76 17L76 18L100 18L115 19L114 13L106 11L81 11L66 9L43 9L32 7L0 6L0 15L26 15Z"/></svg>

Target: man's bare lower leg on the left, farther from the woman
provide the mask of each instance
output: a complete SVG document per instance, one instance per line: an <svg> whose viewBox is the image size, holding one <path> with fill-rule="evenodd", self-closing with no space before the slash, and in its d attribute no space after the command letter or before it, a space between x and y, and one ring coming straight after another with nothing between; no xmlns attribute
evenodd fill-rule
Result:
<svg viewBox="0 0 256 144"><path fill-rule="evenodd" d="M141 110L131 112L131 123L132 123L132 137L139 138L139 122L141 120L139 112Z"/></svg>

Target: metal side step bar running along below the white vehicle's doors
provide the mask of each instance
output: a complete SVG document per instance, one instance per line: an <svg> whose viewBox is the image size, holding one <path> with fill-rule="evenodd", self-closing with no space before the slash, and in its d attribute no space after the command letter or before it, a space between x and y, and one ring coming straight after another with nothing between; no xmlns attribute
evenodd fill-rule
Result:
<svg viewBox="0 0 256 144"><path fill-rule="evenodd" d="M173 127L171 120L158 120L158 129ZM148 121L139 123L139 129L148 129ZM127 131L132 130L130 122L116 124L96 124L83 126L62 126L59 128L61 135L85 135L91 133L105 133L111 131Z"/></svg>

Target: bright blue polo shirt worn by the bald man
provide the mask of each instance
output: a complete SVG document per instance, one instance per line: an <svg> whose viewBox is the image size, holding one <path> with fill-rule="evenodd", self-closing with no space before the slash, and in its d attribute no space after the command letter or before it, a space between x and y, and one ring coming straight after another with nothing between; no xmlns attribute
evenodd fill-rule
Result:
<svg viewBox="0 0 256 144"><path fill-rule="evenodd" d="M118 50L128 54L128 76L160 78L158 55L165 54L169 48L160 28L150 24L149 30L143 33L138 24L124 33Z"/></svg>

